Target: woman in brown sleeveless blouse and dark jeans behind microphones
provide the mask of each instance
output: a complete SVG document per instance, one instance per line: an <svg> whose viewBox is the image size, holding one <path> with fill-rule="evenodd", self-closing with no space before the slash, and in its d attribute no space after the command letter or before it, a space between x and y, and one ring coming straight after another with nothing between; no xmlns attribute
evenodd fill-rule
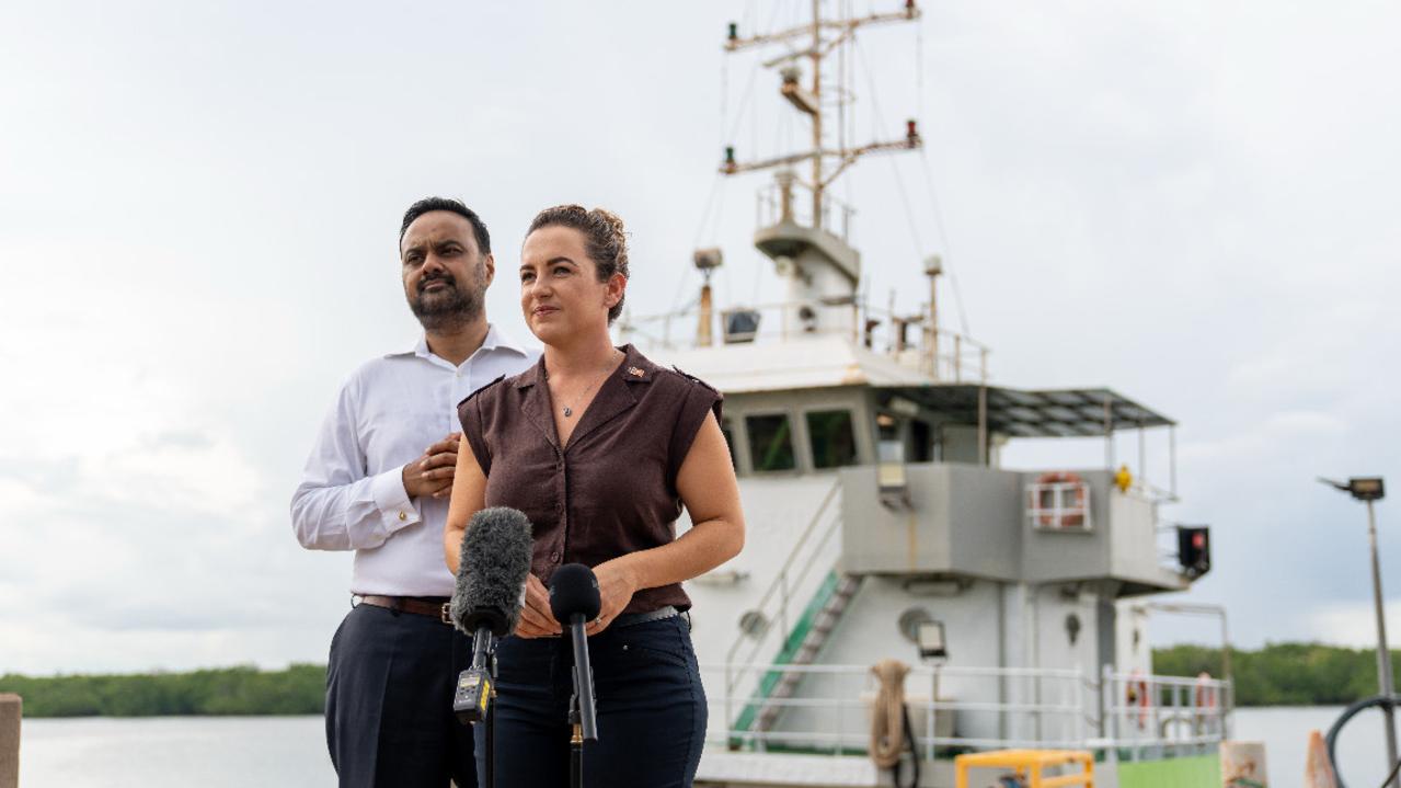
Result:
<svg viewBox="0 0 1401 788"><path fill-rule="evenodd" d="M539 363L458 407L462 447L444 530L455 572L472 515L523 510L534 526L525 607L497 648L495 771L500 785L565 785L569 644L546 583L580 562L598 576L602 611L587 628L598 740L591 785L691 785L706 701L679 616L681 582L744 544L738 485L720 432L720 394L661 369L608 325L622 310L622 222L559 206L531 223L521 250L521 310L545 344ZM685 506L693 526L675 538ZM479 759L485 746L478 747Z"/></svg>

